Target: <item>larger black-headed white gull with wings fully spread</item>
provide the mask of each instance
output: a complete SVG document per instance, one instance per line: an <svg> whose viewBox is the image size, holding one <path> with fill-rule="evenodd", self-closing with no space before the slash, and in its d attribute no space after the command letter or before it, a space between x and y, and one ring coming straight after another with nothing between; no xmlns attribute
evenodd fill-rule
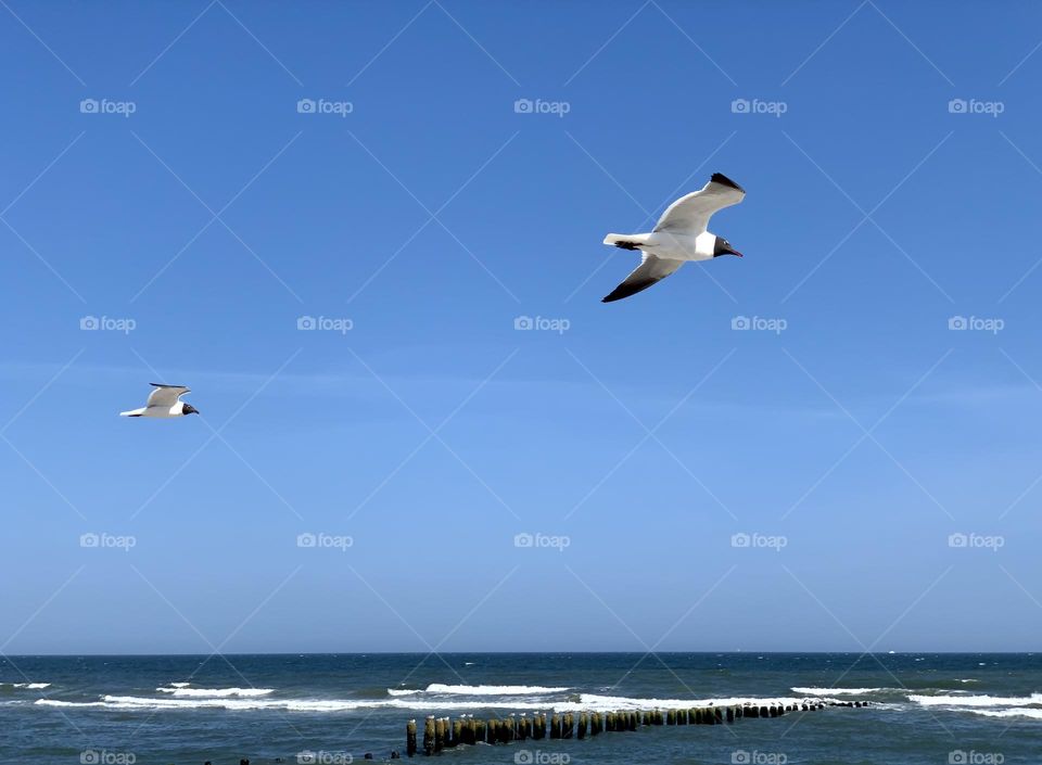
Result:
<svg viewBox="0 0 1042 765"><path fill-rule="evenodd" d="M709 260L721 255L741 257L730 242L706 228L713 213L738 204L745 196L745 189L727 176L714 173L701 190L671 204L651 233L609 233L605 244L639 250L643 258L636 270L601 302L621 301L647 290L687 260Z"/></svg>

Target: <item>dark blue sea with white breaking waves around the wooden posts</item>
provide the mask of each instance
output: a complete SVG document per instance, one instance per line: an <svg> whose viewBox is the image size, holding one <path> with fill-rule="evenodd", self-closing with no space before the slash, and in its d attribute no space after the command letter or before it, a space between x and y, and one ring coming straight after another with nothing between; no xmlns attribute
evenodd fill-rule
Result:
<svg viewBox="0 0 1042 765"><path fill-rule="evenodd" d="M450 653L0 658L0 762L347 765L406 724L582 710L827 705L733 725L445 750L471 765L1042 763L1042 654ZM422 743L421 752L422 755Z"/></svg>

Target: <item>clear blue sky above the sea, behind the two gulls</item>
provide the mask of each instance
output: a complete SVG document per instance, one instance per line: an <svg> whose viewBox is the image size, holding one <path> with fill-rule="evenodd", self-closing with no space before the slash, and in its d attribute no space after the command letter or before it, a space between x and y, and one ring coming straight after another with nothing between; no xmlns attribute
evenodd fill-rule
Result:
<svg viewBox="0 0 1042 765"><path fill-rule="evenodd" d="M0 651L1037 647L1040 38L9 3ZM713 171L745 259L601 304Z"/></svg>

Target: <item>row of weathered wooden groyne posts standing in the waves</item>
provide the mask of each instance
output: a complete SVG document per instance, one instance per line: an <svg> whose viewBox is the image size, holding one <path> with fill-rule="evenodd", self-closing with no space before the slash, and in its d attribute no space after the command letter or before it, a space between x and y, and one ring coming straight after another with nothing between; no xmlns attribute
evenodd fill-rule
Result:
<svg viewBox="0 0 1042 765"><path fill-rule="evenodd" d="M696 706L686 710L644 710L622 712L564 712L552 713L547 719L545 712L528 715L492 717L487 721L473 715L462 715L456 719L431 715L423 724L423 753L437 754L442 750L461 744L510 743L526 739L584 739L601 732L637 730L644 726L656 725L721 725L734 723L742 717L780 717L788 712L810 712L825 706L867 706L868 702L821 701L800 704L739 704L733 706ZM417 751L416 721L405 726L405 751L411 757Z"/></svg>

